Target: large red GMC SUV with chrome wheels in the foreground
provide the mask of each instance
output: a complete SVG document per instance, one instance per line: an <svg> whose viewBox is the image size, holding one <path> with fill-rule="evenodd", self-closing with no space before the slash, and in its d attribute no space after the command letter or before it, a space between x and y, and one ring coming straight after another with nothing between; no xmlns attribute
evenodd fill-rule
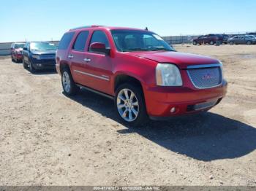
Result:
<svg viewBox="0 0 256 191"><path fill-rule="evenodd" d="M206 111L227 90L221 62L176 52L157 34L135 28L67 31L56 52L56 70L64 93L84 87L113 98L118 116L130 125Z"/></svg>

